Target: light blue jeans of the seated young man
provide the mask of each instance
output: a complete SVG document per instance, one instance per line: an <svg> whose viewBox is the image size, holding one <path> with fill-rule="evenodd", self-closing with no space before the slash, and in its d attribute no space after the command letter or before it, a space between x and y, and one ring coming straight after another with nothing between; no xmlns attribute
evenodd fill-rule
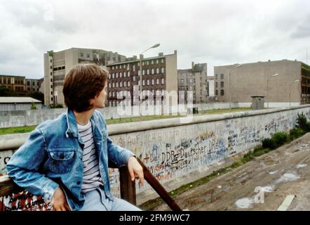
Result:
<svg viewBox="0 0 310 225"><path fill-rule="evenodd" d="M85 203L80 211L141 211L126 200L113 197L109 200L102 189L95 189L84 194Z"/></svg>

